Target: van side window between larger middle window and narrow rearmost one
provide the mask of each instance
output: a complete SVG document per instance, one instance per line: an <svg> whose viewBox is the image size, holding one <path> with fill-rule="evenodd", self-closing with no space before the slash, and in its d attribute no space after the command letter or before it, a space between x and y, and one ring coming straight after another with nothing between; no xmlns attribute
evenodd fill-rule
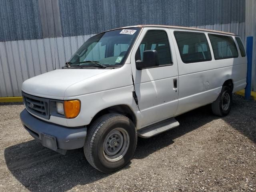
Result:
<svg viewBox="0 0 256 192"><path fill-rule="evenodd" d="M236 44L232 37L215 34L208 35L215 60L238 57Z"/></svg>

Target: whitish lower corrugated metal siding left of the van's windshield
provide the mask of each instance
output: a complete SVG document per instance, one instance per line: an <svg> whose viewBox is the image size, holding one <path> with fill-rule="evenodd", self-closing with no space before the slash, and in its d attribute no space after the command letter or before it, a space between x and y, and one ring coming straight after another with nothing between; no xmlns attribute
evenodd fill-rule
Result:
<svg viewBox="0 0 256 192"><path fill-rule="evenodd" d="M0 96L21 96L22 82L64 66L86 36L0 42Z"/></svg>

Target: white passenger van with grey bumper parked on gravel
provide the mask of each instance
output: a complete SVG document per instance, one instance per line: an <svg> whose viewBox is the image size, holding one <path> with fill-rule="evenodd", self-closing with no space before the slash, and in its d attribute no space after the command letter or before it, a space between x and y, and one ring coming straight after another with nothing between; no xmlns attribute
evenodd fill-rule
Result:
<svg viewBox="0 0 256 192"><path fill-rule="evenodd" d="M239 36L176 26L139 25L88 39L62 69L26 80L24 128L65 154L84 147L102 172L132 158L137 136L179 126L175 116L211 104L230 112L232 93L246 86Z"/></svg>

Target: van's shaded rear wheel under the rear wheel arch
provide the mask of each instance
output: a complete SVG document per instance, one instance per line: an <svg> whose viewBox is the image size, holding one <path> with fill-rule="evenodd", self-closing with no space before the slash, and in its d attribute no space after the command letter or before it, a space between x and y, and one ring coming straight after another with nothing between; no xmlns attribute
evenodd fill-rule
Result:
<svg viewBox="0 0 256 192"><path fill-rule="evenodd" d="M220 95L212 103L213 114L223 117L228 115L232 107L232 91L228 86L222 86Z"/></svg>

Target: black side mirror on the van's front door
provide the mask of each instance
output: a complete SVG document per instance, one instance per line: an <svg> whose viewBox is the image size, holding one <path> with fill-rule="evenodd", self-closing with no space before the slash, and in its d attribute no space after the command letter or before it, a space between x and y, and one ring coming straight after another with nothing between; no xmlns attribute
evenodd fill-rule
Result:
<svg viewBox="0 0 256 192"><path fill-rule="evenodd" d="M158 53L156 50L147 50L143 52L143 61L136 61L136 68L142 70L145 68L159 66Z"/></svg>

